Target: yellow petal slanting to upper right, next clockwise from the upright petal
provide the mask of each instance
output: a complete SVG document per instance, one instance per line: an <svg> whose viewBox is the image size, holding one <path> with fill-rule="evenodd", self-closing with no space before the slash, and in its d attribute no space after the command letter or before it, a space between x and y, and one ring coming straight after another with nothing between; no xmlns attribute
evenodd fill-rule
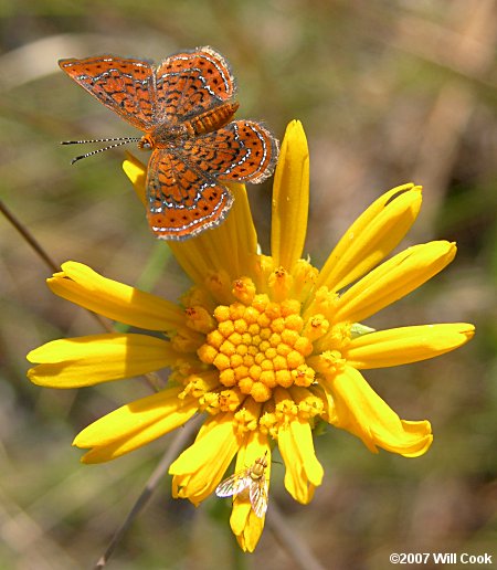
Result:
<svg viewBox="0 0 497 570"><path fill-rule="evenodd" d="M376 200L346 231L316 283L339 291L384 258L408 233L421 208L421 187L404 184Z"/></svg>

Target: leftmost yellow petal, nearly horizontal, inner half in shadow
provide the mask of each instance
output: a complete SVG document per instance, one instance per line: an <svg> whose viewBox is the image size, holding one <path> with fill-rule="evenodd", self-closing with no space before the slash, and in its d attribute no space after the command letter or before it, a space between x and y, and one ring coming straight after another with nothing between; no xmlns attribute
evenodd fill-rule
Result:
<svg viewBox="0 0 497 570"><path fill-rule="evenodd" d="M28 355L38 362L29 379L51 388L80 388L120 380L172 366L170 342L148 335L93 335L52 340Z"/></svg>

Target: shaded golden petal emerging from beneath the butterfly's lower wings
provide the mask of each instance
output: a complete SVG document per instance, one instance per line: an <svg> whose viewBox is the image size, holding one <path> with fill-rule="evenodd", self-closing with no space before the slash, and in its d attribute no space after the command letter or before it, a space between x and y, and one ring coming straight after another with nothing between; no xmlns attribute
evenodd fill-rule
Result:
<svg viewBox="0 0 497 570"><path fill-rule="evenodd" d="M243 184L224 184L234 197L226 220L184 242L169 242L184 272L198 285L213 272L228 272L231 279L247 275L248 261L257 251L257 234ZM248 274L250 275L250 274Z"/></svg>

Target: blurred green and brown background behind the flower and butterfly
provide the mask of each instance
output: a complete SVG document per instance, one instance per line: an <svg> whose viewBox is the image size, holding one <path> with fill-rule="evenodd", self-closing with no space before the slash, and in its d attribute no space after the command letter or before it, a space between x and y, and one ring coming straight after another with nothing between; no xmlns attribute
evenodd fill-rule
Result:
<svg viewBox="0 0 497 570"><path fill-rule="evenodd" d="M374 455L329 430L316 441L326 476L307 507L273 466L271 500L326 569L383 569L390 552L488 552L497 563L496 44L493 0L0 2L1 199L57 264L80 261L171 300L188 286L149 233L124 151L70 165L89 148L61 140L136 131L56 61L108 52L157 62L201 45L231 63L239 117L264 119L278 138L290 119L303 122L315 265L372 200L409 181L423 184L424 203L402 249L457 242L443 274L368 323L476 324L475 339L455 352L366 373L401 418L432 422L429 453ZM267 251L271 181L250 198ZM32 386L29 350L101 329L50 293L51 271L3 218L0 250L0 568L91 568L170 440L112 464L80 464L74 435L147 389L139 380ZM166 476L109 568L298 568L269 528L242 555L228 503L173 500Z"/></svg>

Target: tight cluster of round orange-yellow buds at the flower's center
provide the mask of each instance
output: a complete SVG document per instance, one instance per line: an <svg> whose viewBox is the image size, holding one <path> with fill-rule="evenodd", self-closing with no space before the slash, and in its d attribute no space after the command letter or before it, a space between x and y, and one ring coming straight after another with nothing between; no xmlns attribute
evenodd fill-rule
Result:
<svg viewBox="0 0 497 570"><path fill-rule="evenodd" d="M266 402L276 387L308 387L315 372L306 365L313 344L304 334L300 303L271 302L265 294L240 295L243 302L220 305L216 326L207 335L199 358L219 370L219 381Z"/></svg>

